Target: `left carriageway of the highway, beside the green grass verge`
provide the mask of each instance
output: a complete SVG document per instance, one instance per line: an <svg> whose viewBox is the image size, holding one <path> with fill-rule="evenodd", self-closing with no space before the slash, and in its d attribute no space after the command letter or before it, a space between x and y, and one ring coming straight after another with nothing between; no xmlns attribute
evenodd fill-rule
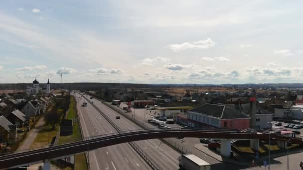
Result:
<svg viewBox="0 0 303 170"><path fill-rule="evenodd" d="M87 107L82 107L85 99L83 97L80 99L77 93L75 95L84 136L117 132L89 102ZM151 170L128 143L90 151L89 164L91 170Z"/></svg>

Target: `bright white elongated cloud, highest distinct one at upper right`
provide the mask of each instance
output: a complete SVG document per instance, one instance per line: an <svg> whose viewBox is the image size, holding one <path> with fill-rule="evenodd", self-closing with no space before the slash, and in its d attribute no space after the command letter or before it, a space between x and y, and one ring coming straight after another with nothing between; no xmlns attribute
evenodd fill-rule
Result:
<svg viewBox="0 0 303 170"><path fill-rule="evenodd" d="M182 44L170 44L167 47L169 47L174 52L178 52L189 48L210 48L214 47L215 44L216 43L214 41L208 38L206 40L200 40L193 43L184 42Z"/></svg>

